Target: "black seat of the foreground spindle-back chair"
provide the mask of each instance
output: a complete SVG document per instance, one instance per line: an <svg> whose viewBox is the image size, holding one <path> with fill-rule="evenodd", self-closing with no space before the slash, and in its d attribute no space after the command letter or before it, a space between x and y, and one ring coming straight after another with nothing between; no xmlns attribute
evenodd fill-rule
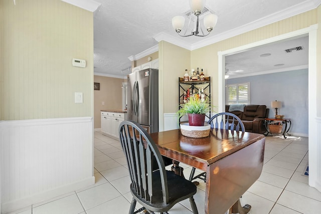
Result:
<svg viewBox="0 0 321 214"><path fill-rule="evenodd" d="M197 187L191 181L168 170L166 170L166 175L167 175L167 181L168 181L167 184L168 184L168 191L169 191L168 204L163 203L163 197L162 197L163 194L162 194L162 187L161 187L162 185L161 185L159 170L152 172L152 178L153 178L152 205L149 201L144 200L143 198L141 198L139 195L136 194L135 190L132 188L132 184L130 184L131 194L136 200L140 200L141 202L143 202L144 204L142 205L147 209L155 212L164 212L169 210L177 202L184 200L186 198L190 198L196 193Z"/></svg>

